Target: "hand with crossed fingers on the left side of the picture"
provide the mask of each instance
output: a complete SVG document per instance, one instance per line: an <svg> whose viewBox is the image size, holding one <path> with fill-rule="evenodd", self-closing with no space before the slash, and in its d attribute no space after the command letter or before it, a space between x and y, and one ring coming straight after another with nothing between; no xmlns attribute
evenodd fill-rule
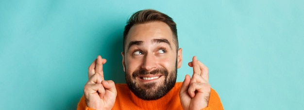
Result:
<svg viewBox="0 0 304 110"><path fill-rule="evenodd" d="M112 80L103 78L102 65L106 59L98 55L88 70L88 82L84 85L86 106L96 110L111 110L114 106L117 90Z"/></svg>

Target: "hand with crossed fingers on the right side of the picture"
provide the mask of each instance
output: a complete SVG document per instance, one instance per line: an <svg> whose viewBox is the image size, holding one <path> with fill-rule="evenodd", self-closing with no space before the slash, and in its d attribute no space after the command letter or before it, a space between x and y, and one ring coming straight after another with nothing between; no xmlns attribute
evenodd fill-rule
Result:
<svg viewBox="0 0 304 110"><path fill-rule="evenodd" d="M193 68L190 78L186 75L180 91L180 100L184 110L201 110L208 106L211 87L208 83L208 68L193 56L188 65Z"/></svg>

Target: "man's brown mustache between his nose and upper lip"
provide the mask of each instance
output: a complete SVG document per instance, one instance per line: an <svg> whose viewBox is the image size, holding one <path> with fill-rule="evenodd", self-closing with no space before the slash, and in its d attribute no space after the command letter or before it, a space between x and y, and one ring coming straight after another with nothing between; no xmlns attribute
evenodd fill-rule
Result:
<svg viewBox="0 0 304 110"><path fill-rule="evenodd" d="M161 73L164 74L165 76L168 76L169 72L167 69L161 68L161 69L154 69L151 72L148 72L145 69L137 69L133 72L132 76L135 78L137 76L141 76L141 75L148 75L148 74L152 74L155 75L157 73Z"/></svg>

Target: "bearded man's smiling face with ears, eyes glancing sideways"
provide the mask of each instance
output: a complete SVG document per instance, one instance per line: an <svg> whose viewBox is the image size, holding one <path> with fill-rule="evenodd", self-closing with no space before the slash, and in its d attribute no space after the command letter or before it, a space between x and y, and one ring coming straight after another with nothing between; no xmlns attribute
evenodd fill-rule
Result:
<svg viewBox="0 0 304 110"><path fill-rule="evenodd" d="M176 51L173 37L163 22L138 24L130 29L122 63L128 87L139 98L158 99L174 86L182 49Z"/></svg>

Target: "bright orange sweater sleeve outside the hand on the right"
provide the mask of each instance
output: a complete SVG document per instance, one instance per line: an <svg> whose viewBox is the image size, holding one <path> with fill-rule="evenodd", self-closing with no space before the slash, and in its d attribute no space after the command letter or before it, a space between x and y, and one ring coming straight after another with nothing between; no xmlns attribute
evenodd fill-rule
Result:
<svg viewBox="0 0 304 110"><path fill-rule="evenodd" d="M203 110L224 110L223 105L220 101L220 96L212 88L210 92L208 107L204 108Z"/></svg>

